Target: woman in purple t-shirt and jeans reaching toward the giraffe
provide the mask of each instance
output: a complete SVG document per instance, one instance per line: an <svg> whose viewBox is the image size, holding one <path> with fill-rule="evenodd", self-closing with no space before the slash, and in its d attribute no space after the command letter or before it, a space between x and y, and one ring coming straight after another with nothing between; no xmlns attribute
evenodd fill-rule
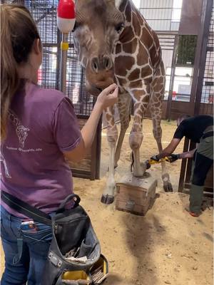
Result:
<svg viewBox="0 0 214 285"><path fill-rule="evenodd" d="M41 40L29 11L1 5L1 190L51 214L73 192L65 157L79 161L86 155L118 88L113 84L101 92L80 131L71 101L36 85L41 60ZM1 201L1 241L1 284L40 284L51 228Z"/></svg>

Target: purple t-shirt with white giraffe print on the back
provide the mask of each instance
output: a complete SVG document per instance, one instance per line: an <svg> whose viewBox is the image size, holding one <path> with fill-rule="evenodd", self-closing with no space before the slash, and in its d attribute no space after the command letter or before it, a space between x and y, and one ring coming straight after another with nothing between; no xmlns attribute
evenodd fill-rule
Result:
<svg viewBox="0 0 214 285"><path fill-rule="evenodd" d="M63 152L81 139L71 101L57 90L27 83L14 96L7 137L1 142L1 190L46 213L73 192ZM18 212L7 211L18 217Z"/></svg>

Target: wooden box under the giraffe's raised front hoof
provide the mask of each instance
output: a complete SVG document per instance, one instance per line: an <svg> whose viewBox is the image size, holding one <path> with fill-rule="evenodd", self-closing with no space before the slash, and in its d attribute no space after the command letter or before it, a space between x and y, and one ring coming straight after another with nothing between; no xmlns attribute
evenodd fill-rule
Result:
<svg viewBox="0 0 214 285"><path fill-rule="evenodd" d="M156 197L157 180L148 175L142 178L128 174L116 183L116 209L145 215Z"/></svg>

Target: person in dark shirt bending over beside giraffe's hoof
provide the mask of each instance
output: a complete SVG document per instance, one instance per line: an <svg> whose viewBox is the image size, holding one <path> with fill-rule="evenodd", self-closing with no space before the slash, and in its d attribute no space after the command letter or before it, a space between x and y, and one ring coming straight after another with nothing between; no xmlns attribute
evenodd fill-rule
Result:
<svg viewBox="0 0 214 285"><path fill-rule="evenodd" d="M197 115L195 117L183 115L178 118L177 125L178 128L175 130L173 140L168 147L165 147L161 153L154 155L151 159L158 161L169 156L170 162L174 162L179 158L193 158L188 211L193 217L198 217L201 214L205 178L213 165L213 117L210 115ZM173 152L183 137L197 143L197 147L195 150L174 155Z"/></svg>

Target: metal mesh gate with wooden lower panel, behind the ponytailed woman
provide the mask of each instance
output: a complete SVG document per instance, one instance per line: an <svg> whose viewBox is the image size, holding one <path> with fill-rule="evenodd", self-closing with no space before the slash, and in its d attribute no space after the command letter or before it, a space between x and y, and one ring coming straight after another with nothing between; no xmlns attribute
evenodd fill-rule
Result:
<svg viewBox="0 0 214 285"><path fill-rule="evenodd" d="M38 84L45 88L59 89L61 33L58 31L56 25L58 0L16 0L1 1L1 3L24 4L29 9L36 21L43 44L43 63L38 71ZM95 98L86 92L84 71L78 63L78 57L73 48L71 33L69 34L68 42L69 49L65 95L71 98L78 123L80 128L82 128L93 110ZM91 151L88 152L86 158L78 162L78 164L70 163L73 176L89 178L91 180L98 179L100 155L101 122L98 125L96 138L94 139Z"/></svg>

